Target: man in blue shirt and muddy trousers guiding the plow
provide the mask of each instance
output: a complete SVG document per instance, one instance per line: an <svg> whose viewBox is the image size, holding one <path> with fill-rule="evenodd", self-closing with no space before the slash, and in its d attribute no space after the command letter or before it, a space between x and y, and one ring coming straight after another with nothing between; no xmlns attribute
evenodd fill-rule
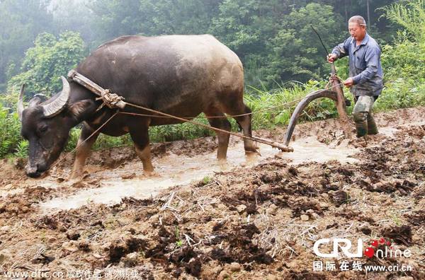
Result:
<svg viewBox="0 0 425 280"><path fill-rule="evenodd" d="M348 56L350 77L344 81L344 86L350 88L356 100L353 119L356 122L357 136L378 134L372 107L382 91L380 46L368 35L365 19L361 16L350 18L348 31L351 37L332 50L328 55L328 62Z"/></svg>

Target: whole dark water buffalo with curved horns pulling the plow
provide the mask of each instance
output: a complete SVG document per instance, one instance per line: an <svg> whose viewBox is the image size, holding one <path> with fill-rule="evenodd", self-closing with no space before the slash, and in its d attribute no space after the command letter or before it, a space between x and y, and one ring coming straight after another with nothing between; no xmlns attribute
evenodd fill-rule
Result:
<svg viewBox="0 0 425 280"><path fill-rule="evenodd" d="M179 117L241 115L251 112L244 105L244 70L234 52L211 35L123 36L106 42L84 59L77 71L103 88L119 93L128 103ZM38 98L23 108L18 102L21 134L29 141L26 173L38 177L63 151L69 130L83 122L79 143L85 141L114 113L108 107L96 112L101 101L74 81L62 77L63 88L49 100ZM125 112L143 112L125 107ZM251 115L235 117L244 135L251 136ZM101 133L121 136L130 133L143 170L152 172L148 127L176 124L171 118L116 115ZM230 130L225 118L209 119L212 127ZM80 177L98 132L76 153L71 178ZM229 135L217 133L217 158L225 159ZM244 139L246 153L256 151Z"/></svg>

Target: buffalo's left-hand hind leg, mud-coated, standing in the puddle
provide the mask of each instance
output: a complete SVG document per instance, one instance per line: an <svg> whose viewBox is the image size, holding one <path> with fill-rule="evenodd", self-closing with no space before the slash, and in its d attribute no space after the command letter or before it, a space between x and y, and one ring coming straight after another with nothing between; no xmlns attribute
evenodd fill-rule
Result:
<svg viewBox="0 0 425 280"><path fill-rule="evenodd" d="M210 110L209 112L205 112L207 117L212 117L208 119L211 127L215 127L217 129L223 129L227 132L232 130L232 125L225 117L225 114L218 110ZM229 146L229 138L230 134L225 132L215 132L217 134L218 139L218 150L217 150L217 159L219 161L225 160L227 156L227 147Z"/></svg>

